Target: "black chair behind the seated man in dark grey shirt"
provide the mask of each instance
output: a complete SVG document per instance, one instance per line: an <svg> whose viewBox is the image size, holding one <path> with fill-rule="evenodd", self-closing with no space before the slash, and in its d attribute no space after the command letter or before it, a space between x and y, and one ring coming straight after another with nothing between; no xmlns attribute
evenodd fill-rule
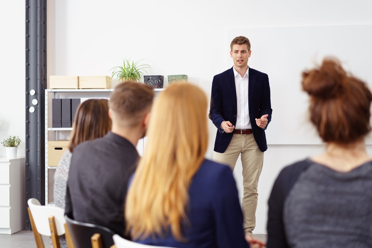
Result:
<svg viewBox="0 0 372 248"><path fill-rule="evenodd" d="M65 215L68 229L75 248L110 248L114 245L110 229L89 223L73 220Z"/></svg>

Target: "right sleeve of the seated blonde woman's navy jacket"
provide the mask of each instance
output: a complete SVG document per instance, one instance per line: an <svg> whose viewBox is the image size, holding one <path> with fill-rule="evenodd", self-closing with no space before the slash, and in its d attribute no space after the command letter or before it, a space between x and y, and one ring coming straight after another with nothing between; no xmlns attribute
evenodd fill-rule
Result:
<svg viewBox="0 0 372 248"><path fill-rule="evenodd" d="M213 211L218 248L248 248L243 230L243 213L232 171L224 166L216 178Z"/></svg>

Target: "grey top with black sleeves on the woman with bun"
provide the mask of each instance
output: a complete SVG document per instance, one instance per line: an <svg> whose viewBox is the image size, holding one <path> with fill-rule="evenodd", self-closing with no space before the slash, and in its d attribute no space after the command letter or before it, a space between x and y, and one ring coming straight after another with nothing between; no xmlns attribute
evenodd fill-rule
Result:
<svg viewBox="0 0 372 248"><path fill-rule="evenodd" d="M283 169L269 199L267 247L372 247L372 162L347 173L310 159Z"/></svg>

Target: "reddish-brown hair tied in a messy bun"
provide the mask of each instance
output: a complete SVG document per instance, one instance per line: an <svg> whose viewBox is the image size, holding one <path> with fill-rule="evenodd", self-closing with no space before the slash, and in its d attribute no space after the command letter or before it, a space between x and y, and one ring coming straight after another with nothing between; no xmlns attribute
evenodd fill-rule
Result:
<svg viewBox="0 0 372 248"><path fill-rule="evenodd" d="M325 58L320 67L304 71L302 89L310 96L310 120L324 142L348 144L371 131L371 91L337 59Z"/></svg>

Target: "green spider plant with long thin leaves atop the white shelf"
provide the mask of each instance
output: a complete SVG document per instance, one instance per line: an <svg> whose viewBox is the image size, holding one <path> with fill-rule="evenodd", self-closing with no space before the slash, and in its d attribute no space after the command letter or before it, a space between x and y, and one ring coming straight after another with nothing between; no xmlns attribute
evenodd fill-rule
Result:
<svg viewBox="0 0 372 248"><path fill-rule="evenodd" d="M113 67L111 79L116 76L118 80L124 81L140 81L143 77L144 73L147 73L145 71L145 68L150 68L150 65L147 64L138 64L143 59L140 59L137 62L130 62L129 59L124 59L124 63L122 66L115 66Z"/></svg>

